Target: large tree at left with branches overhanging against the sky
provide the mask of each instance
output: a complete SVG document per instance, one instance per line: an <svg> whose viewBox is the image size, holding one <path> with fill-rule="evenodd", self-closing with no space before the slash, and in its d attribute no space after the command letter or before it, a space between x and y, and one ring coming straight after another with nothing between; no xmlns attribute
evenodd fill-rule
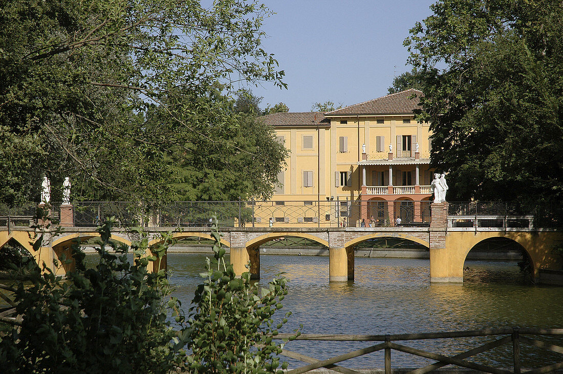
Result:
<svg viewBox="0 0 563 374"><path fill-rule="evenodd" d="M183 143L152 116L166 112L162 128L182 141L230 145L227 129L191 127L203 108L190 100L217 82L226 93L241 81L285 86L260 47L269 15L251 0L3 4L0 201L37 199L44 174L53 187L70 176L74 199L169 197L173 169L163 161Z"/></svg>

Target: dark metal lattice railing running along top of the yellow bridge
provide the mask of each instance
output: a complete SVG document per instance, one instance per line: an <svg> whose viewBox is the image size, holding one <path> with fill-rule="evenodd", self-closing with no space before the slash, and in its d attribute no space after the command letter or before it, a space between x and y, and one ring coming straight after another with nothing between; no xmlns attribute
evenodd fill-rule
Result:
<svg viewBox="0 0 563 374"><path fill-rule="evenodd" d="M122 227L428 227L431 201L175 201L166 204L81 201L72 204L75 227L115 217ZM450 227L563 227L562 206L526 208L506 202L449 202ZM37 205L0 206L0 227L30 226ZM51 203L61 217L60 202ZM8 225L10 223L10 225Z"/></svg>

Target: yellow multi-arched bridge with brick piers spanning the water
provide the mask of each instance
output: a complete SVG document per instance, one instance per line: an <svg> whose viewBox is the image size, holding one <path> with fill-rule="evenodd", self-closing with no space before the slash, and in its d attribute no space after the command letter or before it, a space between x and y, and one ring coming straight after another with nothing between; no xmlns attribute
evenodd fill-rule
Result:
<svg viewBox="0 0 563 374"><path fill-rule="evenodd" d="M225 227L221 228L221 243L230 247L230 259L236 274L245 271L254 279L260 278L260 245L282 237L300 237L318 242L329 249L330 281L354 279L354 250L359 243L377 237L396 237L422 244L430 251L430 280L432 282L462 282L463 264L468 252L479 242L494 237L504 237L517 242L529 256L533 275L539 277L540 269L559 270L562 267L561 255L554 250L563 247L563 231L542 228L487 228L487 227L448 227L447 203L432 204L430 227ZM452 226L450 224L450 226ZM149 245L159 244L161 234L174 228L146 227ZM0 249L8 241L15 240L34 254L39 264L55 268L57 274L73 269L73 263L61 263L70 258L70 245L76 240L84 241L99 234L91 228L65 227L59 235L44 233L44 245L34 251L32 243L38 233L29 228L0 229ZM208 227L189 228L174 232L173 237L181 240L188 237L211 238ZM113 240L130 245L135 237L125 230L115 231ZM59 260L58 267L53 260ZM247 264L250 268L247 269ZM166 267L166 258L160 263ZM158 271L158 265L151 263L150 271Z"/></svg>

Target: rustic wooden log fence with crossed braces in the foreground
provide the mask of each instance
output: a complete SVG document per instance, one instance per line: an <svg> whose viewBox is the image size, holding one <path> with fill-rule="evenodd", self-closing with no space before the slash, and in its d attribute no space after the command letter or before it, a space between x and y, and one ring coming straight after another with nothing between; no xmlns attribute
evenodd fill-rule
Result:
<svg viewBox="0 0 563 374"><path fill-rule="evenodd" d="M507 373L521 373L520 367L520 345L526 344L534 346L536 348L549 350L551 352L563 354L563 347L551 343L546 343L537 339L532 339L531 337L526 337L523 335L533 335L533 336L563 336L563 328L486 328L482 330L471 330L471 331L451 331L451 332L431 332L423 334L398 334L398 335L333 335L333 334L302 334L300 336L294 337L292 334L278 334L273 336L274 339L295 339L295 340L324 340L324 341L381 341L382 343L368 346L366 348L361 348L348 352L345 354L340 354L336 357L332 357L325 360L318 360L306 355L291 352L284 349L282 355L297 359L299 361L308 363L306 366L302 366L293 370L289 370L287 374L299 374L305 373L307 371L315 370L318 368L329 368L341 373L346 374L360 374L360 372L338 366L337 363L346 361L351 358L359 357L372 352L377 352L383 350L385 354L385 374L391 374L391 350L396 350L399 352L404 352L412 354L418 357L425 357L435 360L435 363L430 365L417 368L415 370L409 371L409 374L423 374L427 372L434 371L440 367L446 365L455 365L462 368L468 368L472 370L478 370L481 372L493 373L493 374L507 374ZM466 352L458 353L452 357L448 357L442 354L427 352L426 350L421 350L406 346L404 344L394 343L395 341L410 341L410 340L425 340L425 339L453 339L457 337L476 337L476 336L490 336L494 337L494 340L488 343L477 346L476 348L467 350ZM480 354L497 348L502 345L512 344L512 357L513 357L513 368L512 370L507 370L507 368L492 367L484 364L479 364L471 361L467 361L476 354ZM543 374L548 372L553 372L563 368L563 357L560 362L534 368L532 370L525 371L529 374Z"/></svg>

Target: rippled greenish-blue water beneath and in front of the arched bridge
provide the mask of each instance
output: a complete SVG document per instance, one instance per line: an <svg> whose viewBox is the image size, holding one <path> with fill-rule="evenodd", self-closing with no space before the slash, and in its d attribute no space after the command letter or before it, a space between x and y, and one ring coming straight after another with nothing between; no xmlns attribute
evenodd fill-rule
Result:
<svg viewBox="0 0 563 374"><path fill-rule="evenodd" d="M206 255L169 254L169 280L186 310ZM266 284L284 272L289 294L278 318L291 311L283 332L302 325L303 334L407 334L498 327L563 327L563 287L535 286L516 263L466 261L463 284L430 283L424 259L356 258L354 282L330 283L328 257L261 255ZM468 268L468 269L467 269ZM441 354L475 348L488 338L402 342ZM363 348L369 342L292 341L286 346L317 359ZM561 341L559 341L561 343ZM522 367L563 361L561 355L521 346ZM477 356L474 361L512 366L512 345ZM291 359L290 367L296 362ZM432 361L392 351L392 367L422 366ZM342 363L351 368L382 368L383 353Z"/></svg>

